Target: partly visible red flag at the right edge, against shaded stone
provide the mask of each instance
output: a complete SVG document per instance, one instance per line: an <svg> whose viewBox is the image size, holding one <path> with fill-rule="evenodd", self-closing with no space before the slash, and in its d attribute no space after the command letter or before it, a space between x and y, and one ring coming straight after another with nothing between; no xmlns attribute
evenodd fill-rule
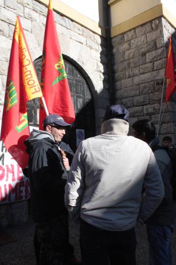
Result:
<svg viewBox="0 0 176 265"><path fill-rule="evenodd" d="M176 62L175 62L174 50L172 47L172 41L171 41L171 36L170 36L167 61L166 61L166 69L165 69L165 78L167 78L166 79L166 102L168 102L169 98L176 91L175 66L176 66Z"/></svg>

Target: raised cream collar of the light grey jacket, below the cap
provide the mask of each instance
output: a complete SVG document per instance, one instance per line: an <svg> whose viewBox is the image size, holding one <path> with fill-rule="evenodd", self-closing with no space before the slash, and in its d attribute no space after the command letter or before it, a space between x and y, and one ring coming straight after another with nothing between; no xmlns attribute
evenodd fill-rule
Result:
<svg viewBox="0 0 176 265"><path fill-rule="evenodd" d="M129 123L126 120L110 119L102 123L101 133L127 135L129 132Z"/></svg>

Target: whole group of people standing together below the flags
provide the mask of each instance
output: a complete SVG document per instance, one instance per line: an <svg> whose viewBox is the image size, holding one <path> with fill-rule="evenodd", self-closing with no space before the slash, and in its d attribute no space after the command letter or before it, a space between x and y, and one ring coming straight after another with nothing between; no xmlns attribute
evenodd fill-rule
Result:
<svg viewBox="0 0 176 265"><path fill-rule="evenodd" d="M137 222L146 224L150 265L172 265L175 223L173 163L151 120L137 120L110 106L101 135L80 143L73 154L62 139L70 124L50 114L43 130L25 141L29 154L35 254L40 265L135 265ZM69 242L68 213L80 223L81 260Z"/></svg>

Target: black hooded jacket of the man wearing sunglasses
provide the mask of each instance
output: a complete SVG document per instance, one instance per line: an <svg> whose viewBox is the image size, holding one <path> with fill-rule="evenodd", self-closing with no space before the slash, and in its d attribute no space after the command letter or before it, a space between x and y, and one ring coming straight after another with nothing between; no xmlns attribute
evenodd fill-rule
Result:
<svg viewBox="0 0 176 265"><path fill-rule="evenodd" d="M43 222L66 211L64 192L67 171L54 139L46 132L38 132L37 137L30 137L25 145L29 153L32 216L35 222Z"/></svg>

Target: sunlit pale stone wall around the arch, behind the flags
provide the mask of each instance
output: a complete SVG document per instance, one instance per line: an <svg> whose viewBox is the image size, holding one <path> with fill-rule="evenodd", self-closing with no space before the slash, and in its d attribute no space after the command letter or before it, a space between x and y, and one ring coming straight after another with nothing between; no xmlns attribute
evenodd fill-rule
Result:
<svg viewBox="0 0 176 265"><path fill-rule="evenodd" d="M35 0L0 0L0 118L11 41L19 15L32 59L42 55L47 8ZM75 60L92 81L96 132L109 105L106 39L54 12L62 53ZM1 122L0 122L1 123Z"/></svg>

